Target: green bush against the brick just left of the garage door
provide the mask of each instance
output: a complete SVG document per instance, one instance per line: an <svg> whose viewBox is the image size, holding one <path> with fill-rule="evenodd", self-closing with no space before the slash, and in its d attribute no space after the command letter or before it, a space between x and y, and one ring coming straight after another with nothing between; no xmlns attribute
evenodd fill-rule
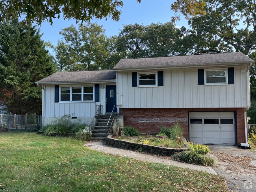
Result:
<svg viewBox="0 0 256 192"><path fill-rule="evenodd" d="M176 121L176 123L172 127L162 127L160 134L166 135L168 138L171 138L173 140L177 140L176 135L179 136L183 134L183 128L181 127L181 124ZM159 134L158 134L159 135Z"/></svg>

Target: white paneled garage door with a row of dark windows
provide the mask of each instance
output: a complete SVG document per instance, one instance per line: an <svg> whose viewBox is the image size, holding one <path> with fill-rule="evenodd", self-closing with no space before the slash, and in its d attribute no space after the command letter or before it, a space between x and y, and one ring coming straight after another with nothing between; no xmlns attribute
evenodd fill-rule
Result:
<svg viewBox="0 0 256 192"><path fill-rule="evenodd" d="M235 144L234 112L189 112L189 141Z"/></svg>

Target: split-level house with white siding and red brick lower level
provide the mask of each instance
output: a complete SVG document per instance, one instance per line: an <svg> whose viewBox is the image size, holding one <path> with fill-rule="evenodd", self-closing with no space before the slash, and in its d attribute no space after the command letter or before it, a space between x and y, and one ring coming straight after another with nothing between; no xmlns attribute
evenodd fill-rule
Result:
<svg viewBox="0 0 256 192"><path fill-rule="evenodd" d="M57 72L37 82L45 89L43 122L74 113L88 123L95 105L103 105L103 114L121 105L124 126L141 133L178 120L191 142L237 145L247 142L252 63L235 52L121 59L113 70Z"/></svg>

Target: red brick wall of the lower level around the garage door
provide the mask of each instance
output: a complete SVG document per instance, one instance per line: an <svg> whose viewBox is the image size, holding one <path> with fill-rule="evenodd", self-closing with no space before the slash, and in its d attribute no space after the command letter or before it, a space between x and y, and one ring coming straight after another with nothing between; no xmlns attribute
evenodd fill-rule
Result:
<svg viewBox="0 0 256 192"><path fill-rule="evenodd" d="M237 143L245 142L246 108L148 108L124 109L124 126L134 126L141 133L159 132L162 126L170 127L176 120L184 127L184 137L188 139L188 111L237 111Z"/></svg>

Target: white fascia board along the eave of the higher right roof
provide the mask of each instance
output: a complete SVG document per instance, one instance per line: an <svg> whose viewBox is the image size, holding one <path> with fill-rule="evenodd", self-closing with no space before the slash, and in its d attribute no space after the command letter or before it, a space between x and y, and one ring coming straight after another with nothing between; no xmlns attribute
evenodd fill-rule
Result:
<svg viewBox="0 0 256 192"><path fill-rule="evenodd" d="M229 66L243 66L250 65L250 63L212 63L202 65L173 65L173 66L150 66L150 67L136 67L136 68L122 68L113 69L115 72L118 71L141 71L141 70L163 70L163 69L184 69L184 68L218 68L218 67L229 67Z"/></svg>

